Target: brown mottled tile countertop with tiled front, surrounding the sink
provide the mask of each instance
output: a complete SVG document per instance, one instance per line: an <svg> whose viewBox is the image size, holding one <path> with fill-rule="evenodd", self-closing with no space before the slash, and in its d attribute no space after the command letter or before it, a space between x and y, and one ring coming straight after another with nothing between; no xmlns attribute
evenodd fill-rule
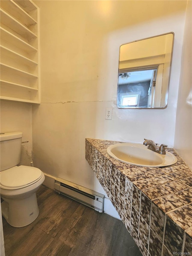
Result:
<svg viewBox="0 0 192 256"><path fill-rule="evenodd" d="M165 216L169 217L167 218L166 229L163 228L163 226L165 225L164 220L162 223L162 229L159 229L159 230L164 230L162 231L164 233L161 234L160 232L159 234L156 233L156 235L154 235L155 237L157 236L160 238L161 241L163 241L164 249L162 249L163 251L162 255L170 255L168 253L167 254L165 253L167 248L169 248L170 251L171 249L174 250L174 246L172 247L171 245L170 247L169 245L164 246L166 245L166 236L167 236L167 241L169 240L168 238L169 235L168 233L166 234L166 232L168 232L167 230L169 227L169 220L170 220L170 225L172 225L172 221L173 221L174 223L176 223L176 228L177 226L180 228L179 231L177 231L177 234L179 234L178 232L182 232L182 230L184 230L184 235L182 234L181 236L182 241L179 241L179 242L183 244L183 239L186 239L186 241L187 239L189 239L189 244L190 244L192 242L192 239L191 239L192 238L192 171L185 164L183 159L174 151L174 149L170 149L170 148L166 148L166 150L174 154L177 157L178 161L176 164L173 164L168 167L161 167L161 168L140 167L140 166L120 162L110 157L110 155L107 154L107 147L116 143L120 143L120 142L108 141L108 140L97 140L97 139L86 139L86 144L87 144L86 159L90 164L91 168L92 167L93 169L95 168L94 161L96 161L98 162L98 166L100 166L100 168L103 168L104 170L108 169L107 175L105 174L106 177L108 177L109 175L109 170L111 172L110 187L107 183L109 182L109 178L108 180L102 180L103 178L101 177L101 183L103 183L101 185L104 187L105 191L108 192L107 194L109 198L111 197L111 194L114 194L114 200L113 198L110 198L110 199L112 200L112 203L114 204L116 209L119 209L119 206L121 205L121 200L124 200L123 202L124 209L126 208L126 211L124 210L125 214L122 215L123 218L126 219L125 215L129 214L129 211L130 211L132 212L131 218L133 217L133 219L131 219L131 221L133 223L134 221L137 222L139 221L138 219L140 219L140 224L139 224L140 227L144 228L146 226L146 228L149 229L149 228L152 228L153 221L155 221L155 219L151 220L149 224L149 218L150 218L149 214L146 215L145 218L140 218L140 215L142 214L141 208L143 206L142 206L142 203L137 203L136 201L142 200L142 198L144 199L146 198L145 200L151 200L152 201L151 215L153 214L153 209L157 208L156 212L162 211ZM92 149L90 145L93 146ZM88 152L89 150L90 150L90 154ZM96 169L97 167L95 168L95 170ZM96 174L98 173L97 170L95 172ZM114 185L113 185L113 182L114 182ZM116 193L114 193L113 191L113 186L115 190L116 184L119 184L118 198L116 198L117 197ZM132 194L135 193L136 195L134 197L132 196L132 198L131 198L131 194L128 193L129 185L130 185L130 189L132 186ZM134 189L135 189L135 192L134 192ZM141 199L138 199L139 197ZM126 204L126 200L128 202L127 204ZM134 200L136 201L134 202ZM132 202L131 206L134 205L134 207L130 208L128 206L129 202ZM145 206L145 204L143 205ZM134 211L135 211L135 214L133 214ZM118 212L121 213L121 210L119 210ZM145 222L145 224L142 224L142 221L143 223ZM156 224L154 223L154 225ZM158 226L159 225L161 226L161 223L158 223ZM138 230L136 230L135 232L137 233L137 231ZM143 232L143 234L144 233L145 232ZM150 234L150 239L153 239L152 233L153 232L151 232ZM183 236L185 238L183 238ZM150 245L149 245L150 242L148 241L147 237L146 238L141 237L140 239L142 240L142 244L144 245L145 245L145 242L143 241L145 241L145 239L148 242L148 245L146 245L148 254L146 255L150 255ZM167 242L167 244L168 243L169 241ZM186 246L187 246L187 242L186 242ZM182 245L180 247L182 248ZM192 248L192 245L189 245L189 249L191 248ZM145 255L145 253L143 255Z"/></svg>

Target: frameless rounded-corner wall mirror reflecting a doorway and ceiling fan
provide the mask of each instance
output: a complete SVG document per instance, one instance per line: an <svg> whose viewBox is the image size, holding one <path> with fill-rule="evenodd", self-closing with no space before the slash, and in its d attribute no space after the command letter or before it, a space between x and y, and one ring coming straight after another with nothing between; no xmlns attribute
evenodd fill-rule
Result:
<svg viewBox="0 0 192 256"><path fill-rule="evenodd" d="M174 33L122 44L118 108L167 107Z"/></svg>

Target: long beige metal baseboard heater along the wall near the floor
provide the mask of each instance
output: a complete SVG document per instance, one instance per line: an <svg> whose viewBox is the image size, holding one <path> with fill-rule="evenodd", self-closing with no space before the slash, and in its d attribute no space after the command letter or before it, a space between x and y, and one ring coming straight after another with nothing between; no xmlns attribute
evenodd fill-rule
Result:
<svg viewBox="0 0 192 256"><path fill-rule="evenodd" d="M55 191L85 204L98 212L104 211L104 195L64 179L56 178Z"/></svg>

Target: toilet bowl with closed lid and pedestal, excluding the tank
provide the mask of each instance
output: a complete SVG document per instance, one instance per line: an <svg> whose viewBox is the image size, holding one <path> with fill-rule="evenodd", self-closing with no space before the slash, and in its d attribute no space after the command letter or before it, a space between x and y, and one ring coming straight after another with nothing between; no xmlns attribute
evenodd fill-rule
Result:
<svg viewBox="0 0 192 256"><path fill-rule="evenodd" d="M2 215L13 227L24 227L39 215L36 191L44 182L38 168L15 166L0 172Z"/></svg>

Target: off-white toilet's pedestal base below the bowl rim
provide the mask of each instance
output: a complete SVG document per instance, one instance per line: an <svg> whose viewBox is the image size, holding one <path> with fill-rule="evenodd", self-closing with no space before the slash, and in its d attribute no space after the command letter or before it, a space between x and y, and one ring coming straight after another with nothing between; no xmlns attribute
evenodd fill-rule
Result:
<svg viewBox="0 0 192 256"><path fill-rule="evenodd" d="M25 227L39 215L36 193L22 200L2 198L2 215L13 227Z"/></svg>

